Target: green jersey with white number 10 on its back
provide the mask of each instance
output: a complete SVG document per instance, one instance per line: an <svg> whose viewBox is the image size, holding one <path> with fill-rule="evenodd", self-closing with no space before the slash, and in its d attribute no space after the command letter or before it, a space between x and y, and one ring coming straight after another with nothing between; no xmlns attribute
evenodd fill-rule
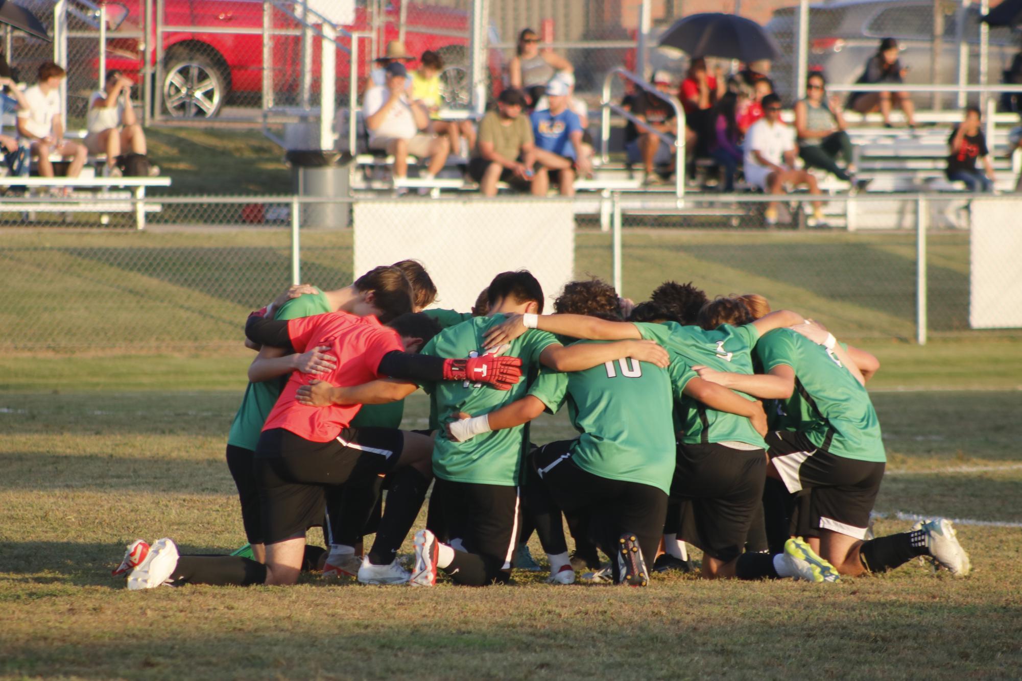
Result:
<svg viewBox="0 0 1022 681"><path fill-rule="evenodd" d="M567 401L571 425L582 434L571 445L578 468L669 493L676 457L672 386L680 385L680 393L696 376L679 355L671 359L669 373L631 357L567 374L544 368L529 394L544 400L551 414Z"/></svg>

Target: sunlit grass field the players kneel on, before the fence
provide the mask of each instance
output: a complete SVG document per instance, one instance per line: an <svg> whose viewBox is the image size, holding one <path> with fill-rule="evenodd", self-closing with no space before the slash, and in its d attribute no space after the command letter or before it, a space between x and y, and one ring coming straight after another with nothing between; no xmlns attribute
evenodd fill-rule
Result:
<svg viewBox="0 0 1022 681"><path fill-rule="evenodd" d="M867 345L884 363L873 385L891 473L879 532L905 529L899 512L1022 523L1022 353L1001 345ZM991 367L991 352L1009 358ZM823 588L687 577L551 587L542 573L516 573L517 586L483 589L309 577L292 588L124 590L108 571L137 536L197 552L243 543L223 447L246 360L0 358L0 676L950 679L1022 669L1022 530L971 522L959 526L975 566L964 580L913 563ZM968 390L979 386L990 389ZM405 426L425 416L415 396ZM544 418L533 439L568 432ZM542 555L535 539L532 549Z"/></svg>

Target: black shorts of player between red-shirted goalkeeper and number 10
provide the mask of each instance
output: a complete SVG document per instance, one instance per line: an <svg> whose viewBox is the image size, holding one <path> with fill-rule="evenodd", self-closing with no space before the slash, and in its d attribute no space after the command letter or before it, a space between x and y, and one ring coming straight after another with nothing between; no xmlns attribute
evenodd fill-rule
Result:
<svg viewBox="0 0 1022 681"><path fill-rule="evenodd" d="M481 557L487 582L506 582L521 524L519 488L436 478L432 494L443 499L451 547Z"/></svg>

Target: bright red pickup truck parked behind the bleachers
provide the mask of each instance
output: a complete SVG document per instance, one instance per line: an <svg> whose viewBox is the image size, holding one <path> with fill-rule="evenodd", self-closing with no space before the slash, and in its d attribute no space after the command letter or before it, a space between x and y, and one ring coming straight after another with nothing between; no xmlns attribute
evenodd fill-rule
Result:
<svg viewBox="0 0 1022 681"><path fill-rule="evenodd" d="M263 90L263 7L258 0L165 0L162 26L164 69L161 91L164 107L172 116L214 116L225 103L258 106ZM366 2L355 3L355 20L343 27L352 32L369 32L373 21ZM300 3L284 5L300 11ZM143 46L137 39L118 38L126 29L139 31L144 23L144 0L107 2L107 25L111 32L107 40L106 68L120 68L128 74L141 70ZM294 30L297 22L279 9L272 9L273 26L277 31ZM400 3L387 2L379 17L380 45L399 37ZM468 15L449 7L409 3L405 8L405 45L410 54L425 50L439 52L447 64L442 80L445 96L452 103L467 101ZM179 30L187 27L187 30ZM259 33L232 33L258 30ZM151 35L155 37L155 28ZM272 50L272 68L276 103L293 101L300 83L301 39L299 36L277 35ZM313 88L319 83L319 38L314 38ZM341 37L339 44L350 43ZM367 74L366 54L369 41L360 41L360 82ZM502 56L490 51L490 70L494 83L500 83ZM349 55L337 50L336 82L338 93L349 88ZM284 100L284 101L281 101Z"/></svg>

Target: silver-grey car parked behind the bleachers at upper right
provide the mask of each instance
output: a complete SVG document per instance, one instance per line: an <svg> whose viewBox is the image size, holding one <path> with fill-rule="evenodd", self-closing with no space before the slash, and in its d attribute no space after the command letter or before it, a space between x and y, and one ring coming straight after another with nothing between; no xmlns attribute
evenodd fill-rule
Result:
<svg viewBox="0 0 1022 681"><path fill-rule="evenodd" d="M949 5L949 3L948 3ZM950 5L949 5L950 6ZM961 34L959 20L964 15ZM798 32L798 7L784 7L774 12L766 23L781 46L782 56L774 62L771 79L786 103L795 96ZM895 38L901 47L901 63L909 67L907 83L958 83L959 36L969 46L969 83L979 79L979 10L977 3L964 11L957 8L944 16L943 47L936 81L932 72L933 2L932 0L838 0L809 6L809 69L822 70L831 83L850 84L862 76L866 62L884 38ZM1011 64L1019 50L1018 39L1009 29L990 29L988 82L1001 82L1002 71ZM929 107L932 95L913 95L917 104ZM945 107L954 106L957 95L942 98Z"/></svg>

